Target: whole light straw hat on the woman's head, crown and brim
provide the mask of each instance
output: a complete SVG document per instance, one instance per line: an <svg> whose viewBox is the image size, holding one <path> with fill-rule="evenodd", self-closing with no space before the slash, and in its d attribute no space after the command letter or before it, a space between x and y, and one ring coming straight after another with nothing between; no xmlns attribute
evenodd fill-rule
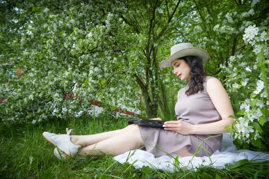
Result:
<svg viewBox="0 0 269 179"><path fill-rule="evenodd" d="M192 43L178 43L171 47L171 56L166 60L160 62L160 68L172 66L171 62L175 59L185 56L197 56L200 57L203 62L209 59L209 54L198 47L193 47Z"/></svg>

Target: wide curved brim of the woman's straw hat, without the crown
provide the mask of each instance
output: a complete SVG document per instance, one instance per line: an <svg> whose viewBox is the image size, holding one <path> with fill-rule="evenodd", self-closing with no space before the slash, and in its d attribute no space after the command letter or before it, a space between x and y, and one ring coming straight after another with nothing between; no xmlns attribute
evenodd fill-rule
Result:
<svg viewBox="0 0 269 179"><path fill-rule="evenodd" d="M173 60L181 58L181 57L185 57L185 56L197 56L197 57L200 57L203 62L209 59L209 54L205 50L200 49L198 47L189 47L189 48L177 51L176 53L174 53L167 59L160 62L160 68L172 66L171 62Z"/></svg>

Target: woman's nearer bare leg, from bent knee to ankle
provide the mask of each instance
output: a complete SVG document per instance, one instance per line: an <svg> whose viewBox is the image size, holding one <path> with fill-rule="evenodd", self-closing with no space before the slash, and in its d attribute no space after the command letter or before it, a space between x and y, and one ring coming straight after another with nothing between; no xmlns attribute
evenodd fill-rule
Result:
<svg viewBox="0 0 269 179"><path fill-rule="evenodd" d="M124 128L121 132L113 132L114 136L110 136L105 139L104 136L97 136L97 138L105 139L100 140L97 143L82 147L79 151L80 155L98 155L100 152L109 155L118 155L143 145L143 140L140 136L139 127L137 125L130 125L128 128Z"/></svg>

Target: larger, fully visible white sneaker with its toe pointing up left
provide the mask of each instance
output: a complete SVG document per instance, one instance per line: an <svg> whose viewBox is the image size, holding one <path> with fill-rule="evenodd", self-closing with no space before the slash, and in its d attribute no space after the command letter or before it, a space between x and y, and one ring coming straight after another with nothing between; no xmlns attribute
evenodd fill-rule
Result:
<svg viewBox="0 0 269 179"><path fill-rule="evenodd" d="M55 133L43 132L42 134L47 141L57 147L60 151L69 155L71 158L77 155L80 145L75 145L71 142L70 136L68 135L56 135Z"/></svg>

